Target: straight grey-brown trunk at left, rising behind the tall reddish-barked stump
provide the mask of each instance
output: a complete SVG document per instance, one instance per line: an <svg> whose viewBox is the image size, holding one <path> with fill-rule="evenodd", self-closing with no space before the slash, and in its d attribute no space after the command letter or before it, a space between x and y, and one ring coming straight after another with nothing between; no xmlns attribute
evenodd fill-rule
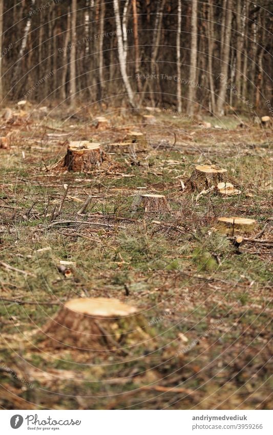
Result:
<svg viewBox="0 0 273 435"><path fill-rule="evenodd" d="M76 42L77 0L71 4L71 50L70 50L70 107L75 110L76 99Z"/></svg>

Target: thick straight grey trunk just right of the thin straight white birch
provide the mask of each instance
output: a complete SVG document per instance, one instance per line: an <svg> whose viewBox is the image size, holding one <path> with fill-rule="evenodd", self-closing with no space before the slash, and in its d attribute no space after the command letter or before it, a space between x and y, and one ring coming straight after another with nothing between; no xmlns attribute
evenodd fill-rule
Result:
<svg viewBox="0 0 273 435"><path fill-rule="evenodd" d="M191 60L189 80L192 83L196 82L196 62L197 62L197 0L192 1L192 19L191 19ZM195 102L196 88L190 85L188 88L187 114L193 115Z"/></svg>

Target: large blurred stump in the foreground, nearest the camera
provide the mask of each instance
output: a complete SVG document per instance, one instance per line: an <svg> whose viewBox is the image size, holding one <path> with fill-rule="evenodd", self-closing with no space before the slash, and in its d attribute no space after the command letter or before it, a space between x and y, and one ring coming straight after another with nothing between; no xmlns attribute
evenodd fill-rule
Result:
<svg viewBox="0 0 273 435"><path fill-rule="evenodd" d="M46 347L118 350L150 337L137 308L118 299L72 299L43 328Z"/></svg>

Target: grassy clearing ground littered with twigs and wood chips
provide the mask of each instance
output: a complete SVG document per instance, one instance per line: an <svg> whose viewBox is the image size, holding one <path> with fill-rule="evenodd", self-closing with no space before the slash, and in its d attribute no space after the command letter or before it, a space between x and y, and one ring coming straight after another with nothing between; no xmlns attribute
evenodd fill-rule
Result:
<svg viewBox="0 0 273 435"><path fill-rule="evenodd" d="M240 128L232 115L207 117L212 127L201 129L187 117L154 114L146 126L118 109L101 113L110 121L104 127L86 110L69 119L61 111L2 119L2 136L11 138L0 149L2 408L272 407L272 129L249 119ZM148 151L112 153L90 174L51 167L67 140L109 144L131 130L146 133ZM241 194L183 192L196 163L227 169ZM170 210L132 213L139 192L165 195ZM260 242L236 248L212 231L220 216L257 219ZM71 222L52 225L63 220ZM71 262L69 278L60 261ZM125 356L43 347L39 329L62 303L101 296L136 306L151 340Z"/></svg>

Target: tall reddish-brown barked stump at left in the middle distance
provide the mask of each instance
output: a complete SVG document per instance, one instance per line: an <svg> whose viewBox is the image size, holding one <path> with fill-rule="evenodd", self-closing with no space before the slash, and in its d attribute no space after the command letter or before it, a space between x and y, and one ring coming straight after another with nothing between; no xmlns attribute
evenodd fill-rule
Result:
<svg viewBox="0 0 273 435"><path fill-rule="evenodd" d="M99 168L105 155L100 143L90 143L87 140L70 142L65 157L65 166L68 171L90 172Z"/></svg>

